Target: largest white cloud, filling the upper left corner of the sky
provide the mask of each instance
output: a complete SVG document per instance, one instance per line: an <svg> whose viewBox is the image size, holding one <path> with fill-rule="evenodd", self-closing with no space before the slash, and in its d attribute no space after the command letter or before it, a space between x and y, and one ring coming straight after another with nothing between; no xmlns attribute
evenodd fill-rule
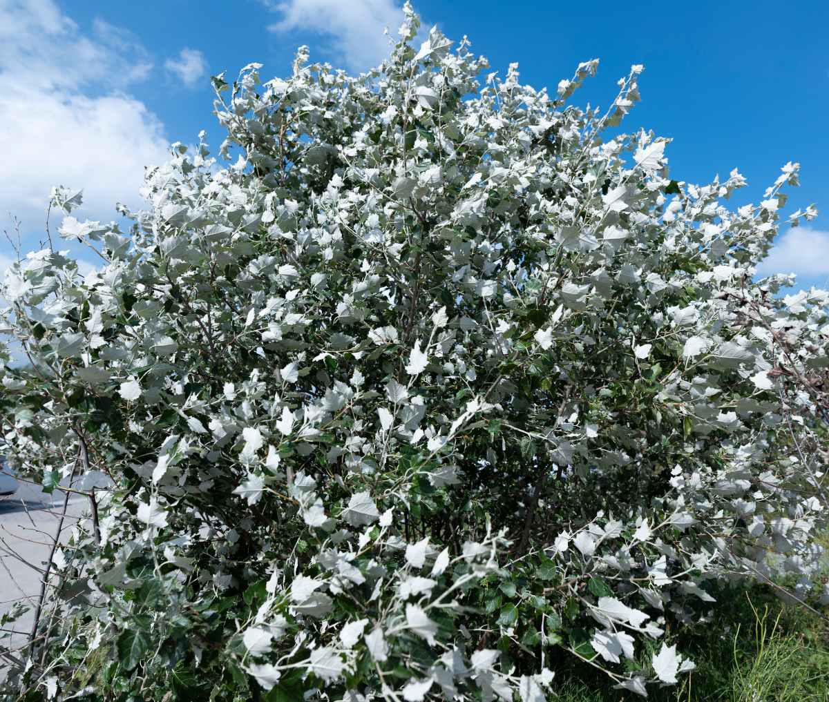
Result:
<svg viewBox="0 0 829 702"><path fill-rule="evenodd" d="M0 0L0 225L21 219L24 251L44 238L52 185L83 188L92 219L141 205L144 166L169 154L162 123L124 91L151 69L128 31L97 20L87 36L53 0Z"/></svg>

